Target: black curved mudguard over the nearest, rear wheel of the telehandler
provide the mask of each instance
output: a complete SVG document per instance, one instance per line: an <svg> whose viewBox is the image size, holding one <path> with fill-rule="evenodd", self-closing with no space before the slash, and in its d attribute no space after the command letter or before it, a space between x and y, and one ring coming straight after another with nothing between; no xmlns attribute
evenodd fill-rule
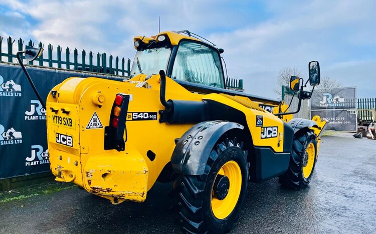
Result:
<svg viewBox="0 0 376 234"><path fill-rule="evenodd" d="M210 152L223 134L244 126L227 121L206 121L197 124L177 141L171 156L172 168L185 175L202 175Z"/></svg>

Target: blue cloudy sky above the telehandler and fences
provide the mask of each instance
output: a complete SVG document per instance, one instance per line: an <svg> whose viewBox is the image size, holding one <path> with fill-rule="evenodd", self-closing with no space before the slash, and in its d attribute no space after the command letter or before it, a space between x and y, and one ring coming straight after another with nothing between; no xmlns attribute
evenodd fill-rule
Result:
<svg viewBox="0 0 376 234"><path fill-rule="evenodd" d="M158 33L158 16L161 31L187 29L223 48L229 77L247 93L278 97L281 69L306 79L318 60L322 77L376 96L374 0L0 0L0 35L133 60L133 37Z"/></svg>

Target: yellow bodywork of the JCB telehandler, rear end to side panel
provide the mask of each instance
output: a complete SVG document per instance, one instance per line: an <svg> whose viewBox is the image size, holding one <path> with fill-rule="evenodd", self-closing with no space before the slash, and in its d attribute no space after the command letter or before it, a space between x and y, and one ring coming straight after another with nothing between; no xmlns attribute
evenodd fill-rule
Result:
<svg viewBox="0 0 376 234"><path fill-rule="evenodd" d="M58 181L76 183L113 203L124 199L145 200L147 191L170 161L174 139L181 137L193 124L160 124L158 110L164 109L164 106L157 98L159 75L147 80L147 88L136 87L144 79L145 75L126 82L72 77L54 87L56 97L50 93L47 100L47 127L51 170ZM255 146L283 151L282 120L258 107L258 102L226 94L192 93L169 78L166 87L166 99L215 100L241 110L249 123ZM127 120L127 141L123 152L103 148L104 127L109 126L116 93L131 95L128 113L157 112L157 120L154 121ZM93 115L98 117L102 128L87 128ZM252 126L256 123L256 115L263 115L264 126L277 126L280 137L261 140L261 128ZM60 117L63 122L56 123ZM64 125L64 122L71 125ZM73 145L57 143L57 134L72 137ZM153 161L146 156L149 150L155 153Z"/></svg>

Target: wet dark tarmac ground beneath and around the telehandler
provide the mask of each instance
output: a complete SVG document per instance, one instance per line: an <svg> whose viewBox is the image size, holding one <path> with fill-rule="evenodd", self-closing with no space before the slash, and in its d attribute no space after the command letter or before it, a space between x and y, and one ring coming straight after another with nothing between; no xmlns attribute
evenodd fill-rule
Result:
<svg viewBox="0 0 376 234"><path fill-rule="evenodd" d="M232 233L376 233L376 141L323 137L307 189L277 181L249 185ZM179 233L170 187L157 183L144 203L116 206L76 187L2 202L0 233Z"/></svg>

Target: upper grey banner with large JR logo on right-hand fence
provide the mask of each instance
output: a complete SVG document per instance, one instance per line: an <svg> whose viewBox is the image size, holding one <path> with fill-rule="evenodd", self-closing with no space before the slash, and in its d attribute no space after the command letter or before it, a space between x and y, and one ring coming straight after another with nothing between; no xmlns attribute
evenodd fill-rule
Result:
<svg viewBox="0 0 376 234"><path fill-rule="evenodd" d="M313 90L311 109L354 109L356 87Z"/></svg>

